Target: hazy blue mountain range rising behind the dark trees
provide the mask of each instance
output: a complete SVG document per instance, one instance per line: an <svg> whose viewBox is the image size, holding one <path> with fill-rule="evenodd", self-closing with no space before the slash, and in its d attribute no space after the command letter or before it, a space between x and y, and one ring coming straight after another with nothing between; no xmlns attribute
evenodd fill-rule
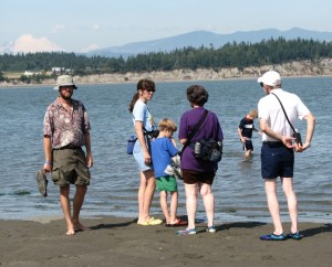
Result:
<svg viewBox="0 0 332 267"><path fill-rule="evenodd" d="M250 31L250 32L235 32L231 34L217 34L208 31L195 31L189 32L172 38L158 39L146 42L136 42L128 43L121 46L112 46L102 50L95 50L86 53L85 55L101 55L110 57L127 57L129 55L136 55L138 53L146 52L169 52L175 49L183 49L186 46L200 47L210 47L211 45L215 49L218 49L227 43L232 42L250 42L257 43L262 40L269 40L271 38L284 38L286 40L293 39L312 39L314 41L332 41L332 32L319 32L319 31L308 31L300 28L293 28L288 31L279 31L276 29L267 29L260 31Z"/></svg>

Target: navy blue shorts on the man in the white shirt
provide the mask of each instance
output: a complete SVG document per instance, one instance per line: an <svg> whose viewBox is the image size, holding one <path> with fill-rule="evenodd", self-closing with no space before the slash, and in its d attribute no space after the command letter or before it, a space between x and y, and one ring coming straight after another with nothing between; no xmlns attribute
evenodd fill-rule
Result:
<svg viewBox="0 0 332 267"><path fill-rule="evenodd" d="M260 157L263 179L293 177L293 149L287 148L282 142L263 142Z"/></svg>

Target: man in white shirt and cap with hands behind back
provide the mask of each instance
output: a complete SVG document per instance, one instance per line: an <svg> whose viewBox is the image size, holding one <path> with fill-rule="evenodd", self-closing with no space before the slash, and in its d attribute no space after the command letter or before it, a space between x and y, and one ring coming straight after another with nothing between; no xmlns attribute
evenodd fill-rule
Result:
<svg viewBox="0 0 332 267"><path fill-rule="evenodd" d="M260 238L263 241L301 239L302 235L298 229L298 201L292 184L294 151L302 152L310 147L315 118L297 95L281 88L282 81L278 72L264 73L258 78L258 83L267 95L258 103L259 125L263 132L261 174L264 179L268 206L274 225L273 233L260 236ZM297 118L307 121L307 135L303 143L294 138ZM277 199L278 177L281 179L287 196L291 220L288 235L283 233L280 218Z"/></svg>

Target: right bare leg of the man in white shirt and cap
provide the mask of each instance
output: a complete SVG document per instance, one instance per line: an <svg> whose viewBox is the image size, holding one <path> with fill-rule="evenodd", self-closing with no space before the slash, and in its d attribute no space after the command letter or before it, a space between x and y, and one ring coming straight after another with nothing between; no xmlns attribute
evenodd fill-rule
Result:
<svg viewBox="0 0 332 267"><path fill-rule="evenodd" d="M287 197L289 215L291 220L291 232L294 234L298 232L298 200L293 190L293 179L283 178L282 189Z"/></svg>

